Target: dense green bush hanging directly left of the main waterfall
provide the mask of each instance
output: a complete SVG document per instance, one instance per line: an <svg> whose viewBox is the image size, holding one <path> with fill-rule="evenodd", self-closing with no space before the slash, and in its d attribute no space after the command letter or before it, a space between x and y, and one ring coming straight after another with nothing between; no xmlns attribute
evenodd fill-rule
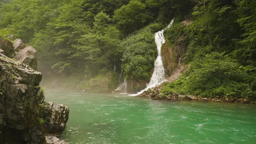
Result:
<svg viewBox="0 0 256 144"><path fill-rule="evenodd" d="M121 69L126 79L140 82L149 79L157 56L154 33L163 29L163 24L153 23L122 41Z"/></svg>

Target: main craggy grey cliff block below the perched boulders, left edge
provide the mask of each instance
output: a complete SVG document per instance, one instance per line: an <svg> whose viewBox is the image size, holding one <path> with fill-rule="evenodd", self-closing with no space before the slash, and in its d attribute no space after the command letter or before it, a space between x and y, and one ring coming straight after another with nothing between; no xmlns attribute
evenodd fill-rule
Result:
<svg viewBox="0 0 256 144"><path fill-rule="evenodd" d="M39 123L42 74L0 54L0 140L3 143L45 143Z"/></svg>

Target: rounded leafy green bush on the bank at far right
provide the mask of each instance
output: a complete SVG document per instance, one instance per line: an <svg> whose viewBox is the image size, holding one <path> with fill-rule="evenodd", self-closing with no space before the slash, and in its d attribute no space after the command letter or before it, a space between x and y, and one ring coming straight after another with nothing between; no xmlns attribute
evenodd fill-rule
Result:
<svg viewBox="0 0 256 144"><path fill-rule="evenodd" d="M183 88L188 94L203 97L252 97L255 92L246 80L250 79L249 75L242 67L223 53L211 52L191 64Z"/></svg>

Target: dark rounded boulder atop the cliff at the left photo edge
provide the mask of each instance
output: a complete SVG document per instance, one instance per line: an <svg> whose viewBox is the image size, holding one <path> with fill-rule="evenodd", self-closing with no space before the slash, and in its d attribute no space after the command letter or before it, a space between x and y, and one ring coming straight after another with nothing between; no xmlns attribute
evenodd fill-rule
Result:
<svg viewBox="0 0 256 144"><path fill-rule="evenodd" d="M0 38L0 52L8 57L13 56L13 43L6 39Z"/></svg>

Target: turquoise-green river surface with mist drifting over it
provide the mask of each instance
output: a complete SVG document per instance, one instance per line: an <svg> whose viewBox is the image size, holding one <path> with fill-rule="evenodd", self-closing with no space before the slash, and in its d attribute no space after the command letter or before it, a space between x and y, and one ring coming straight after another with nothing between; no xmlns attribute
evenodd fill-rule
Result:
<svg viewBox="0 0 256 144"><path fill-rule="evenodd" d="M256 105L47 91L69 106L70 144L256 144Z"/></svg>

